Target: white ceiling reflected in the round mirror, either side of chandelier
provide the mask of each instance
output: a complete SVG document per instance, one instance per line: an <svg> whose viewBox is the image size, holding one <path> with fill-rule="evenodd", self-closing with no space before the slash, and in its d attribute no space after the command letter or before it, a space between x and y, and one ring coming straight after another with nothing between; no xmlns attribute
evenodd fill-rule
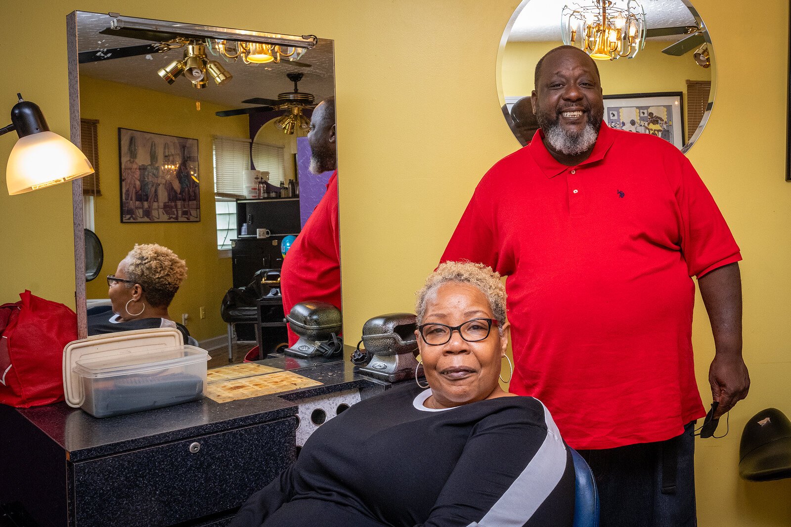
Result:
<svg viewBox="0 0 791 527"><path fill-rule="evenodd" d="M614 0L615 6L625 6L625 0ZM634 3L634 0L633 0ZM675 28L696 25L694 16L681 0L642 0L645 25L651 28ZM511 41L561 41L560 13L563 6L591 6L592 0L530 0L514 21ZM682 36L656 37L652 40L679 40Z"/></svg>

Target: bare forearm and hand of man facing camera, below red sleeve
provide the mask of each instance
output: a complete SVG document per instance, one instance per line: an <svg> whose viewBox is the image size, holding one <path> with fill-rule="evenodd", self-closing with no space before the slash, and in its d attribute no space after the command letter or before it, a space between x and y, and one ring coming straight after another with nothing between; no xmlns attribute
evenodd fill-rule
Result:
<svg viewBox="0 0 791 527"><path fill-rule="evenodd" d="M714 360L709 368L711 395L720 405L719 418L747 396L750 374L742 358L741 275L739 264L718 267L698 279L714 336Z"/></svg>

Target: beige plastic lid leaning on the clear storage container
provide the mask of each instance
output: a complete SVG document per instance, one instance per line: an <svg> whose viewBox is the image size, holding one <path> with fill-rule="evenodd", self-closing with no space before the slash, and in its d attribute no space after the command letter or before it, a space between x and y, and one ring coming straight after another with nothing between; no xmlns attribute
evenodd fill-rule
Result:
<svg viewBox="0 0 791 527"><path fill-rule="evenodd" d="M119 355L129 356L136 352L183 344L184 337L176 328L135 329L71 341L63 348L63 392L66 394L66 404L79 408L85 399L80 374L74 371L78 361L112 359Z"/></svg>

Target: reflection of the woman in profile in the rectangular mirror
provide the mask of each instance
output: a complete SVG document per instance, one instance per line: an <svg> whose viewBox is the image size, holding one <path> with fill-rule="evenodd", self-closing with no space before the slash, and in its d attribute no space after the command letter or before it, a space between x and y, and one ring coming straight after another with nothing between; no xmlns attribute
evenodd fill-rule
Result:
<svg viewBox="0 0 791 527"><path fill-rule="evenodd" d="M88 334L178 328L184 343L190 343L187 328L174 322L168 313L168 305L185 278L186 262L169 248L157 244L134 245L118 264L115 275L107 277L112 309L89 314Z"/></svg>

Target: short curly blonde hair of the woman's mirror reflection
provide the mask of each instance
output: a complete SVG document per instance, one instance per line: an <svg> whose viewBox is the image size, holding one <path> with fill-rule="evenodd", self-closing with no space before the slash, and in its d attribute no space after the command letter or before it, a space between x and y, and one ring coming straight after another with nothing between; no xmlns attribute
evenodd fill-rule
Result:
<svg viewBox="0 0 791 527"><path fill-rule="evenodd" d="M123 264L127 278L142 286L153 307L168 307L187 278L187 262L157 244L135 244Z"/></svg>

